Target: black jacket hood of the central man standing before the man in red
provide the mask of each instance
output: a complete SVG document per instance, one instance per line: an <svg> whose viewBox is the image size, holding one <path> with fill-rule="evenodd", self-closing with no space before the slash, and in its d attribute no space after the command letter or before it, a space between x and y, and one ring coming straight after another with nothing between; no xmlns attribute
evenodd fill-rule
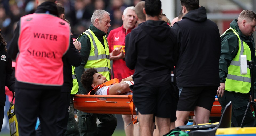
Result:
<svg viewBox="0 0 256 136"><path fill-rule="evenodd" d="M139 27L141 27L147 34L149 34L152 38L162 41L170 36L171 27L167 25L165 21L154 21L147 20L142 23Z"/></svg>

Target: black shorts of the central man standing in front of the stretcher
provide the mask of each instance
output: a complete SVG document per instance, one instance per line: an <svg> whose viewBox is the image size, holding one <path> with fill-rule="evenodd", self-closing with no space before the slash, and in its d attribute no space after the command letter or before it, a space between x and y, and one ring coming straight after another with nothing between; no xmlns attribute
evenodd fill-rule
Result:
<svg viewBox="0 0 256 136"><path fill-rule="evenodd" d="M134 86L133 102L136 113L154 114L156 117L170 118L171 122L176 120L178 103L178 90L172 85L161 87Z"/></svg>

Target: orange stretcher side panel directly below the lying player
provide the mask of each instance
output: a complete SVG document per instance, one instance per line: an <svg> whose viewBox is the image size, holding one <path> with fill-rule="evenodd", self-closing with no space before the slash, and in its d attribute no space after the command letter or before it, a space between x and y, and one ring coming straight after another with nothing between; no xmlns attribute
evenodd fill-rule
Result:
<svg viewBox="0 0 256 136"><path fill-rule="evenodd" d="M74 97L74 108L86 113L131 115L129 104L127 95L75 95ZM133 106L133 115L136 115L135 106Z"/></svg>

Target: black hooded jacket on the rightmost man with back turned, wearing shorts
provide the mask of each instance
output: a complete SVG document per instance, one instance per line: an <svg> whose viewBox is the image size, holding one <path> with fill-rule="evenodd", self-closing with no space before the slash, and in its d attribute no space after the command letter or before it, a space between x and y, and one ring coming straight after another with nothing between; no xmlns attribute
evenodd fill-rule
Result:
<svg viewBox="0 0 256 136"><path fill-rule="evenodd" d="M172 29L176 31L179 58L178 87L218 86L221 38L218 26L207 19L206 9L189 11Z"/></svg>

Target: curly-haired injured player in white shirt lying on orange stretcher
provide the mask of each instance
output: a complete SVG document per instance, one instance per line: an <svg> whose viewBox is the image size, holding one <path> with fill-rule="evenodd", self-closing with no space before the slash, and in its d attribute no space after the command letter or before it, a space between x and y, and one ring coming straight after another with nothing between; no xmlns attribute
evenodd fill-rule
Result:
<svg viewBox="0 0 256 136"><path fill-rule="evenodd" d="M81 83L87 91L92 90L98 85L101 85L105 82L107 82L106 77L98 73L95 68L87 69L81 76ZM93 91L96 92L96 95L132 95L130 86L133 84L134 82L132 81L132 76L130 76L123 79L120 83L109 86L103 86L99 89L97 87ZM105 99L106 98L100 98L100 100Z"/></svg>

